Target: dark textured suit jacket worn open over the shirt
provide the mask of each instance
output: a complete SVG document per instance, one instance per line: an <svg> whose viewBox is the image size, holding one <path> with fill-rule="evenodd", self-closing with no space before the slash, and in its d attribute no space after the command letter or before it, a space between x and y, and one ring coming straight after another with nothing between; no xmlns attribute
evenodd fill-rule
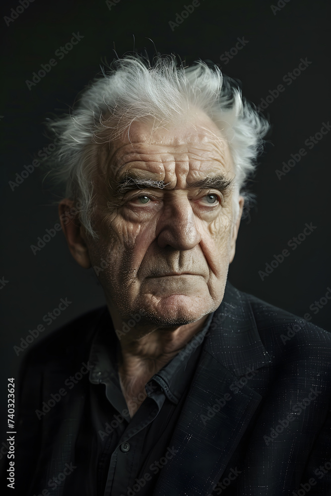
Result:
<svg viewBox="0 0 331 496"><path fill-rule="evenodd" d="M40 494L75 459L88 375L41 420L35 410L88 361L104 311L71 322L27 356L17 494ZM177 453L153 495L331 495L330 393L331 335L228 283L173 434Z"/></svg>

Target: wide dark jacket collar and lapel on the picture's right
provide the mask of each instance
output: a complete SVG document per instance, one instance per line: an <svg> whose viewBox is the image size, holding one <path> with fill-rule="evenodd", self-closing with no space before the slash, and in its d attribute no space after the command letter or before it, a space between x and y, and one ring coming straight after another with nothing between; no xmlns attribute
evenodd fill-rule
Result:
<svg viewBox="0 0 331 496"><path fill-rule="evenodd" d="M245 294L229 283L208 334L154 496L211 493L262 399L249 379L271 359Z"/></svg>

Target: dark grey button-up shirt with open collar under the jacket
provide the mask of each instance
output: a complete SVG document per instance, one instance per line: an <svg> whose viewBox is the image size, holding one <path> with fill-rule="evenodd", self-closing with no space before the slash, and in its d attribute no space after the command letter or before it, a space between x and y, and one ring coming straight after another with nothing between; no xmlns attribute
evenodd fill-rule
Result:
<svg viewBox="0 0 331 496"><path fill-rule="evenodd" d="M176 456L171 437L196 369L211 313L201 331L146 384L147 397L137 397L130 418L116 360L119 339L108 311L93 340L89 364L93 442L88 472L98 496L150 495L168 460ZM82 445L86 432L83 430ZM79 443L78 438L78 443Z"/></svg>

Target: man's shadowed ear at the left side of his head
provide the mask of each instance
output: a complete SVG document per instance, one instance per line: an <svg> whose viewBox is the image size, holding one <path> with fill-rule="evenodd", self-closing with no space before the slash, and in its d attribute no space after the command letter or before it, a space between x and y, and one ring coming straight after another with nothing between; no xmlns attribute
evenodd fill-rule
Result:
<svg viewBox="0 0 331 496"><path fill-rule="evenodd" d="M91 267L91 262L85 242L85 230L79 221L77 209L73 206L73 200L64 198L60 202L59 216L71 255L79 265L84 269L88 269Z"/></svg>

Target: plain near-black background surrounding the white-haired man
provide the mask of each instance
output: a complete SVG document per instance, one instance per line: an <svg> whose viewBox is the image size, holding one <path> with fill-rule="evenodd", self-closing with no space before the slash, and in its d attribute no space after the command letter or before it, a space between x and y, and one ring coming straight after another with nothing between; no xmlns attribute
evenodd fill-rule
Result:
<svg viewBox="0 0 331 496"><path fill-rule="evenodd" d="M13 346L20 346L21 338L43 323L43 315L58 307L61 298L72 303L46 325L37 340L104 304L93 269L83 270L74 262L62 232L35 255L30 248L58 221L56 196L43 185L41 168L13 191L8 183L49 144L42 124L45 118L73 103L100 71L101 61L113 59L114 44L119 56L132 50L132 35L135 48L145 46L151 54L153 45L147 38L159 52L179 53L188 63L199 58L219 63L226 74L242 81L244 95L257 105L269 90L284 85L285 91L264 111L273 129L250 185L258 203L250 210L250 219L242 222L229 279L238 289L292 313L304 316L310 312L312 322L330 328L331 303L316 314L309 310L331 286L330 137L324 136L312 150L304 144L331 118L329 2L280 0L284 6L274 14L269 1L201 0L172 30L169 21L175 22L184 4L191 3L120 0L109 8L101 0L35 0L7 26L3 17L20 4L18 0L2 2L0 278L8 281L0 290L2 414L7 377L17 379L20 361L27 353L24 350L17 356ZM55 57L55 51L77 32L84 38L63 60ZM248 41L245 47L228 63L222 62L221 55L243 37ZM29 90L25 81L52 58L57 65ZM298 67L301 58L312 63L287 85L283 76ZM275 170L300 148L307 155L279 180ZM302 233L305 223L313 223L316 229L296 250L289 248L290 255L262 281L259 270L265 270L274 254L288 248L288 241ZM6 419L1 418L0 443L5 431Z"/></svg>

